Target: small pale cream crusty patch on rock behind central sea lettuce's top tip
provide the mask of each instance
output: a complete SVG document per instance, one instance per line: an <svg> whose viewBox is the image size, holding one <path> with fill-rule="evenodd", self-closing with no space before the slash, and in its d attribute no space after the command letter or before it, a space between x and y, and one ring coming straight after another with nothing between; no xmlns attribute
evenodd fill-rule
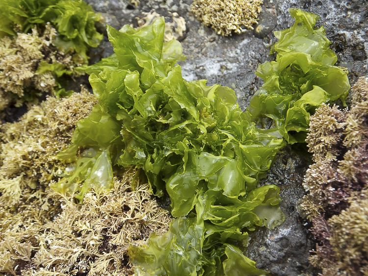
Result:
<svg viewBox="0 0 368 276"><path fill-rule="evenodd" d="M136 18L138 26L151 25L155 19L161 16L155 10L143 12L142 14L144 15L143 17ZM171 16L171 22L165 21L164 41L166 42L173 39L183 38L186 31L185 19L179 16L176 12L169 12L169 14Z"/></svg>

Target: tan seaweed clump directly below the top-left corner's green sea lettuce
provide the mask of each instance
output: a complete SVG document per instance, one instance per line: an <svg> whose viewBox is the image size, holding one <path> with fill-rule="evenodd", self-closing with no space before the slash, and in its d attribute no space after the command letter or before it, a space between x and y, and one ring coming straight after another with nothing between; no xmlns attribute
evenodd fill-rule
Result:
<svg viewBox="0 0 368 276"><path fill-rule="evenodd" d="M41 66L59 64L60 69L71 72L77 65L70 53L56 49L55 38L55 29L48 24L43 34L33 28L29 34L0 39L0 111L55 93L59 72L40 71Z"/></svg>

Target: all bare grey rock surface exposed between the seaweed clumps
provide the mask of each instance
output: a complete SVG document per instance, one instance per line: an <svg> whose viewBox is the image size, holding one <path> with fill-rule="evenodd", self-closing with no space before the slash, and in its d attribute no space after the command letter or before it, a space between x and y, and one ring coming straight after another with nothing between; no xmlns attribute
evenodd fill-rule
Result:
<svg viewBox="0 0 368 276"><path fill-rule="evenodd" d="M320 15L332 48L339 57L338 65L347 67L351 82L367 75L368 55L368 2L367 0L265 0L260 24L241 35L221 37L201 25L190 13L192 0L140 0L137 7L129 0L87 0L106 19L106 23L120 28L124 24L137 25L136 17L152 9L171 20L169 12L177 12L186 21L187 32L180 39L186 61L182 62L184 77L188 80L206 78L209 84L220 83L235 89L240 106L244 109L250 97L260 87L254 75L258 64L272 59L269 46L275 41L273 30L290 26L288 8L302 8ZM107 40L93 50L97 56L112 52ZM286 214L283 225L274 230L255 232L248 247L248 255L260 268L273 275L315 274L309 268L307 257L313 248L307 225L296 211L302 198L302 177L308 167L305 150L288 149L276 159L263 183L281 187L282 208ZM308 156L307 156L308 157Z"/></svg>

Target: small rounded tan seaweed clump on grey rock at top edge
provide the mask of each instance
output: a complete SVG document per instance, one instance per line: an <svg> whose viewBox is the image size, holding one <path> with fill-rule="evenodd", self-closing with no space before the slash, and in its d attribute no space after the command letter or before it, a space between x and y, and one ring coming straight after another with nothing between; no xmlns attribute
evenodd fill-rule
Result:
<svg viewBox="0 0 368 276"><path fill-rule="evenodd" d="M263 0L194 0L191 11L204 25L217 34L229 36L253 29L257 24Z"/></svg>

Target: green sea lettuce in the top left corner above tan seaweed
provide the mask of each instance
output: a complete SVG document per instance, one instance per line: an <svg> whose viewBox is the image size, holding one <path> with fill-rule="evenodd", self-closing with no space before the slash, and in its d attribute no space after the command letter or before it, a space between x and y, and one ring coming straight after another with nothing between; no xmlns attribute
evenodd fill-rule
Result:
<svg viewBox="0 0 368 276"><path fill-rule="evenodd" d="M97 47L103 35L95 23L102 17L84 0L1 0L0 38L27 33L34 26L50 22L57 30L56 46L63 51L76 51L86 63L88 47Z"/></svg>

